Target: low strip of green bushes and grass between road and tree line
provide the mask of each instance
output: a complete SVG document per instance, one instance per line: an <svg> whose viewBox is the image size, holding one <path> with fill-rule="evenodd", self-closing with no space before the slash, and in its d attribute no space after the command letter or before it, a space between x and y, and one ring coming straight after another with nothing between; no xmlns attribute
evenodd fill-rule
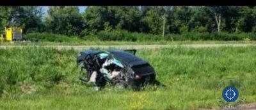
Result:
<svg viewBox="0 0 256 110"><path fill-rule="evenodd" d="M99 31L84 34L83 37L65 36L61 34L52 34L47 32L32 32L25 34L24 38L30 41L54 41L54 42L81 42L85 41L198 41L198 40L218 40L218 41L237 41L243 39L256 40L254 33L228 33L228 32L188 32L182 34L166 34L163 38L161 34L145 34L139 32L129 32L125 30Z"/></svg>

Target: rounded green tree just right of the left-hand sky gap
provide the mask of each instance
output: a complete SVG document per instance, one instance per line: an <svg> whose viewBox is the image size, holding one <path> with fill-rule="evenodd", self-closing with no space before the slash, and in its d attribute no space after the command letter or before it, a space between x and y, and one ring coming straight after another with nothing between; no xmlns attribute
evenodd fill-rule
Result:
<svg viewBox="0 0 256 110"><path fill-rule="evenodd" d="M83 19L77 6L54 6L47 10L45 20L49 32L67 35L79 35L83 29Z"/></svg>

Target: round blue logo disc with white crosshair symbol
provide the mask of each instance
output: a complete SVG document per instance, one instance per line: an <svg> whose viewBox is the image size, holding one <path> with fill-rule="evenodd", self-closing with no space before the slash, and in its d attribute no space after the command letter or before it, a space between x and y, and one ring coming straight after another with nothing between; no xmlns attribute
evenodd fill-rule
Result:
<svg viewBox="0 0 256 110"><path fill-rule="evenodd" d="M227 102L234 102L239 96L238 90L234 86L227 86L222 91L222 97Z"/></svg>

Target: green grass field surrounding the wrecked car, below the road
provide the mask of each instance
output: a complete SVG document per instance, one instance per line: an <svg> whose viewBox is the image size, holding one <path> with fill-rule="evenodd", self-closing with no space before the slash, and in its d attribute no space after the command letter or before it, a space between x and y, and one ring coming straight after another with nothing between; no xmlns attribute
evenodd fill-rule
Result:
<svg viewBox="0 0 256 110"><path fill-rule="evenodd" d="M256 102L256 48L163 48L138 50L166 87L95 92L77 78L76 50L0 50L0 109L196 109L217 107L214 88L236 78Z"/></svg>

